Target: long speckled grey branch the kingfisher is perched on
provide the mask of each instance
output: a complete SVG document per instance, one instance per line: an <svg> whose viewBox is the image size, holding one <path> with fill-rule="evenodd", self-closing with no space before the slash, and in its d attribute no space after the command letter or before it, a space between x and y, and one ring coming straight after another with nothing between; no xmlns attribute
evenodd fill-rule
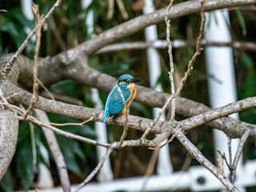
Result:
<svg viewBox="0 0 256 192"><path fill-rule="evenodd" d="M15 96L16 102L22 102L23 104L28 105L30 103L31 97L33 97L33 94L30 94L26 90L22 90L18 88L17 86L14 86L13 84L5 83L4 86L8 87L9 94L17 94ZM53 100L49 100L46 98L39 97L38 102L34 105L35 108L38 108L40 110L45 110L50 113L56 113L56 114L63 114L72 118L82 118L82 119L89 119L92 118L93 121L102 122L104 111L103 110L97 110L97 109L90 109L88 107L83 106L74 106L70 104L66 104L63 102L56 102ZM254 98L246 98L238 102L231 103L227 106L222 106L220 108L209 110L205 113L195 115L192 118L187 118L181 122L172 121L172 122L157 122L156 126L152 130L153 133L162 134L166 130L170 132L170 134L174 134L174 130L182 128L183 130L189 130L196 126L201 126L202 124L205 124L207 122L211 122L216 118L222 118L226 117L229 114L236 113L241 110L246 110L252 107L256 107L256 97ZM107 123L114 124L118 126L122 126L123 123L123 117L113 117L109 118L107 120ZM145 131L147 127L149 127L153 120L148 118L139 118L135 117L133 115L129 115L129 121L128 126L134 129ZM232 118L227 118L232 119ZM225 121L225 120L224 120ZM247 123L247 126L240 126L242 122L238 121L238 124L236 126L219 126L216 127L219 130L224 131L228 135L232 135L233 138L240 138L246 128L251 129L250 136L254 137L256 139L256 129L253 125L250 125ZM245 122L244 122L245 123ZM238 129L239 127L239 129Z"/></svg>

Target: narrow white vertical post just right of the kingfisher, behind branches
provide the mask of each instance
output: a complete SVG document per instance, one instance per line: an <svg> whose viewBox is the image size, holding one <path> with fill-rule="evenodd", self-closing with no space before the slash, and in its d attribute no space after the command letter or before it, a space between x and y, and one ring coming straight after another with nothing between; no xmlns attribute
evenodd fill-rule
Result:
<svg viewBox="0 0 256 192"><path fill-rule="evenodd" d="M145 0L143 14L149 14L151 12L154 12L153 0ZM145 36L147 42L158 40L157 26L146 27ZM157 50L152 47L146 50L146 54L150 74L150 86L154 87L158 81L159 76L161 75L160 58ZM160 85L155 86L155 90L162 91L162 87ZM160 110L161 109L159 108L154 108L154 117L158 114ZM162 114L160 120L165 120L164 114ZM165 140L164 142L166 141L167 140ZM173 167L170 162L169 146L166 145L162 147L162 149L159 151L157 172L158 174L171 174L172 171Z"/></svg>

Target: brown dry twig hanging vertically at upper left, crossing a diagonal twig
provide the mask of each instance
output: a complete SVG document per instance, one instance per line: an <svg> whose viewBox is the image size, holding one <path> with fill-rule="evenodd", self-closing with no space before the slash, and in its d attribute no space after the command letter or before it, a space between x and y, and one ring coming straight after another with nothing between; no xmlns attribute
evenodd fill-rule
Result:
<svg viewBox="0 0 256 192"><path fill-rule="evenodd" d="M39 14L38 5L34 2L32 3L32 10L35 16L35 26L38 26L38 23L41 22L42 16ZM33 82L33 98L31 99L30 106L26 110L26 114L24 115L24 118L26 119L27 114L30 113L30 110L34 106L34 103L38 101L38 54L41 44L41 28L39 27L38 30L35 32L36 36L36 46L35 46L35 53L34 53L34 82Z"/></svg>

